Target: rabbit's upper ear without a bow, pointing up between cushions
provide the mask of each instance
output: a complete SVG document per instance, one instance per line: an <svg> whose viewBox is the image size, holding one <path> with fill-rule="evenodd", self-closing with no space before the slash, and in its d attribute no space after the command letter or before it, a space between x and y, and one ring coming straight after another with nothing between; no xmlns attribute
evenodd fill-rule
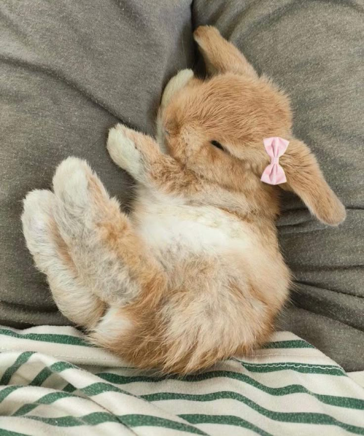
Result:
<svg viewBox="0 0 364 436"><path fill-rule="evenodd" d="M193 38L198 44L210 74L235 73L258 78L252 65L231 43L224 39L213 26L200 26Z"/></svg>

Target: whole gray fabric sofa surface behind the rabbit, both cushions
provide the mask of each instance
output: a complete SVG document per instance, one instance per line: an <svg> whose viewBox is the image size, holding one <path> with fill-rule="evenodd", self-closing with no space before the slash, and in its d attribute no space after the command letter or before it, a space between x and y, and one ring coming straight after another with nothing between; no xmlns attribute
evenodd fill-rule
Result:
<svg viewBox="0 0 364 436"><path fill-rule="evenodd" d="M364 6L362 1L0 3L0 324L62 325L21 233L21 200L50 186L68 155L86 158L127 207L133 183L105 150L118 120L147 133L161 91L200 68L192 31L216 25L291 96L295 135L315 151L348 209L319 224L283 196L280 244L295 275L279 328L347 371L364 369Z"/></svg>

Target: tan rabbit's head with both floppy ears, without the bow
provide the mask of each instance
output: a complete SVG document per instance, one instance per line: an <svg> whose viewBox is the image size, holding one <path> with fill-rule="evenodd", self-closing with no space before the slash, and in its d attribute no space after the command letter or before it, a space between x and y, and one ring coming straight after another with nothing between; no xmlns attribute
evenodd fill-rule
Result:
<svg viewBox="0 0 364 436"><path fill-rule="evenodd" d="M168 153L183 166L226 189L266 190L260 181L270 158L263 139L289 141L280 158L287 182L316 217L330 225L345 219L307 145L292 136L289 98L253 67L217 29L194 33L210 76L198 79L182 70L167 85L159 111L159 130ZM275 188L278 189L278 188Z"/></svg>

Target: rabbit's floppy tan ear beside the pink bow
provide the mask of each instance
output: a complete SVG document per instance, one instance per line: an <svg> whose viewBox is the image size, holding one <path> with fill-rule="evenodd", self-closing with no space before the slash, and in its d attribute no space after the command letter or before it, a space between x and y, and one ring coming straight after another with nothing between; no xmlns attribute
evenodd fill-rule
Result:
<svg viewBox="0 0 364 436"><path fill-rule="evenodd" d="M318 220L336 226L346 217L345 207L327 185L318 162L309 147L292 139L280 158L287 188L298 194ZM282 185L284 188L284 185Z"/></svg>

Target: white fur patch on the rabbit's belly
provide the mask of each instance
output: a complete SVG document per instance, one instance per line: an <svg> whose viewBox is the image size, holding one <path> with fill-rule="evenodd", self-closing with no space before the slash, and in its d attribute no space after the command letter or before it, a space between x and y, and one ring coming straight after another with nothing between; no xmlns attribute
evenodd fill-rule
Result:
<svg viewBox="0 0 364 436"><path fill-rule="evenodd" d="M251 230L228 213L174 198L163 200L139 202L134 215L138 233L153 251L183 258L253 248Z"/></svg>

